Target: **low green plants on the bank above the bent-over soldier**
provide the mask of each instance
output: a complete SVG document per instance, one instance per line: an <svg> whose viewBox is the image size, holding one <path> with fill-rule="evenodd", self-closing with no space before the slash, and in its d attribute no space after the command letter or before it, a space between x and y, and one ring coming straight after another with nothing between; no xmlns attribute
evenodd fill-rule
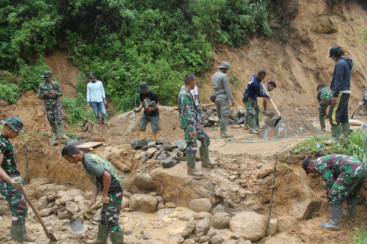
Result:
<svg viewBox="0 0 367 244"><path fill-rule="evenodd" d="M366 137L367 133L357 130L349 135L348 141L341 141L340 143L333 145L325 145L324 141L329 140L330 136L313 136L297 143L293 148L293 153L308 154L315 157L328 154L346 154L361 160ZM321 143L320 148L316 147L317 143ZM366 165L366 152L362 162Z"/></svg>

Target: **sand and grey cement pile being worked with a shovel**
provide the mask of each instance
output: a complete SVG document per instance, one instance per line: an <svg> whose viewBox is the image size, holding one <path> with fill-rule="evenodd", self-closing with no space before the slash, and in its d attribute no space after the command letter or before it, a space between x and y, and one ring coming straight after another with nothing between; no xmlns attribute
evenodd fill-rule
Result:
<svg viewBox="0 0 367 244"><path fill-rule="evenodd" d="M281 119L277 123L278 116L275 115L268 119L267 124L261 128L263 131L259 134L266 140L286 138L292 136L312 136L321 134L321 130L312 125L297 111L282 111Z"/></svg>

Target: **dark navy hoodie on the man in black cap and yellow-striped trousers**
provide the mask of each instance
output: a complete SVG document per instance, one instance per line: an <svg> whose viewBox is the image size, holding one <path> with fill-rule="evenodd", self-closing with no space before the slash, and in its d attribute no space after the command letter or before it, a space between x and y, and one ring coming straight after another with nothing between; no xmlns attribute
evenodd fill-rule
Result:
<svg viewBox="0 0 367 244"><path fill-rule="evenodd" d="M350 78L352 76L353 59L342 57L335 64L330 90L333 97L338 97L341 90L350 90Z"/></svg>

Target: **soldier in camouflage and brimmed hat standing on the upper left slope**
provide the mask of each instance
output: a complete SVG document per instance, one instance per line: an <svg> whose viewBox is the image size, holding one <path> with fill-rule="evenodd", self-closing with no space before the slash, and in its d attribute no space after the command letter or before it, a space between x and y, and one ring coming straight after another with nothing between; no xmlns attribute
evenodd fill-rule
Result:
<svg viewBox="0 0 367 244"><path fill-rule="evenodd" d="M52 73L50 71L45 71L42 77L45 79L45 82L40 84L38 97L44 100L47 120L54 133L52 139L69 139L65 135L64 124L62 122L62 104L59 99L62 96L62 90L56 81L51 80Z"/></svg>

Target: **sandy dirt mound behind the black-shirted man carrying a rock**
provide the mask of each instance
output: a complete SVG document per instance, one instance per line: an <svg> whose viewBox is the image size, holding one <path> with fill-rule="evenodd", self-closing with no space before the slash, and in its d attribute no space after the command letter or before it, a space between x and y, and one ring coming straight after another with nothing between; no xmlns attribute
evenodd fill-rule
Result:
<svg viewBox="0 0 367 244"><path fill-rule="evenodd" d="M108 121L102 130L95 130L92 134L94 138L106 138L106 141L115 143L130 142L139 138L139 122L143 112L136 114L133 111L118 115L116 118ZM183 138L183 130L180 129L178 112L171 107L159 106L159 138L173 141ZM146 136L153 138L150 123L146 126Z"/></svg>

